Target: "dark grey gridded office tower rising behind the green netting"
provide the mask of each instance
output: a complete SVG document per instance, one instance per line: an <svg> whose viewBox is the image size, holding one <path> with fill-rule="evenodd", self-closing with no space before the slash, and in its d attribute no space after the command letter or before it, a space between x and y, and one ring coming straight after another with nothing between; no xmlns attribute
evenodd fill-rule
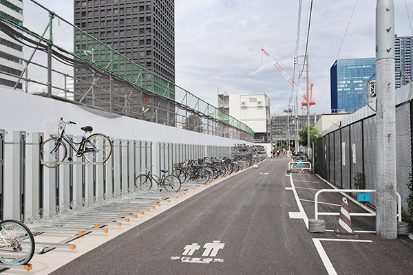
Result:
<svg viewBox="0 0 413 275"><path fill-rule="evenodd" d="M75 30L74 51L149 91L162 96L167 91L167 98L174 99L173 87L168 83L175 82L174 9L173 0L74 0L74 25L107 46L90 43L90 39L86 41L85 36ZM139 67L131 66L130 61L156 76L146 74L145 70L139 72ZM86 97L75 95L76 101L103 107L111 90L114 95L121 95L113 96L113 111L122 113L123 107L130 103L125 102L125 96L131 94L127 85L113 84L99 74L92 76L85 67L76 68L74 76L89 83L76 81L75 92L87 94ZM90 83L96 83L98 88ZM142 108L152 107L145 113L147 117L156 114L157 118L159 115L166 118L175 113L172 104L159 102L159 98L136 92L130 98L136 105L134 108L139 107L141 101Z"/></svg>

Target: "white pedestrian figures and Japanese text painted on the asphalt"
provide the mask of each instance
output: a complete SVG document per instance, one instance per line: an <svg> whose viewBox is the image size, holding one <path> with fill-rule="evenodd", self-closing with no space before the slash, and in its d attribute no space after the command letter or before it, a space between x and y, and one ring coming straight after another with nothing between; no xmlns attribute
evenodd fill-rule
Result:
<svg viewBox="0 0 413 275"><path fill-rule="evenodd" d="M201 245L198 243L191 243L190 245L185 245L183 256L173 256L171 260L181 260L181 263L222 263L223 259L214 259L218 252L222 250L225 243L221 241L212 241L211 243L205 243L200 250ZM202 252L202 257L199 257L200 252ZM195 253L195 256L193 254Z"/></svg>

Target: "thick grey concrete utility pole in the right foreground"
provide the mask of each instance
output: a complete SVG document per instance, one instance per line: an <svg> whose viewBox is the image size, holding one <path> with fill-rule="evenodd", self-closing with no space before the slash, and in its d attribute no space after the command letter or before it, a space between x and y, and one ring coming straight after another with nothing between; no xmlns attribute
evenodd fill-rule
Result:
<svg viewBox="0 0 413 275"><path fill-rule="evenodd" d="M394 2L393 0L377 0L376 234L383 239L397 238L394 81Z"/></svg>

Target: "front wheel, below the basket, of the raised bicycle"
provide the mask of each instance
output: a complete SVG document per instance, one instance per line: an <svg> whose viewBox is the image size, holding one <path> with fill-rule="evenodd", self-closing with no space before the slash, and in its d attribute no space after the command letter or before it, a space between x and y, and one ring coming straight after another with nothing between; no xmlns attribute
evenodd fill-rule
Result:
<svg viewBox="0 0 413 275"><path fill-rule="evenodd" d="M41 162L63 162L66 156L66 146L56 137L45 140L40 146ZM43 164L48 168L54 168L60 164Z"/></svg>

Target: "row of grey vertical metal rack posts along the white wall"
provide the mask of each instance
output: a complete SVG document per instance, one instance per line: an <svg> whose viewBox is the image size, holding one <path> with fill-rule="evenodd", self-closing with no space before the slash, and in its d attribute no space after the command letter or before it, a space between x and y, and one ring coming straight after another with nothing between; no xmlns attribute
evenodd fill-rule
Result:
<svg viewBox="0 0 413 275"><path fill-rule="evenodd" d="M6 142L8 134L12 142ZM0 220L11 215L24 221L28 211L38 215L39 211L59 211L60 206L122 197L134 190L135 177L149 166L160 175L160 170L172 171L173 164L186 159L231 155L230 146L111 138L114 148L105 164L89 164L69 150L65 162L46 168L39 161L45 139L43 133L0 129Z"/></svg>

